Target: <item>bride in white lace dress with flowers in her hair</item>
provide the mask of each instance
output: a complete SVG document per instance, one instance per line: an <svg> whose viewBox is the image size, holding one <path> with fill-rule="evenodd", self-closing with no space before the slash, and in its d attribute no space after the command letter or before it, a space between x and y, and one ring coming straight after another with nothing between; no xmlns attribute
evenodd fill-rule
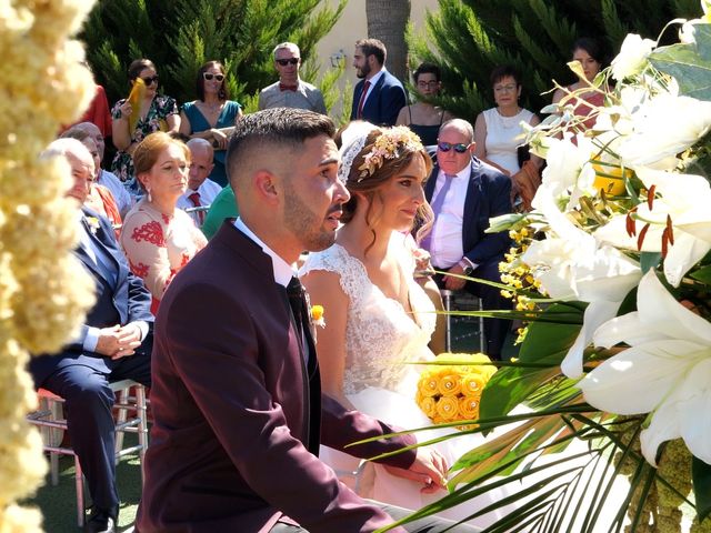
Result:
<svg viewBox="0 0 711 533"><path fill-rule="evenodd" d="M420 233L431 225L422 182L432 162L407 128L363 123L344 132L341 153L339 177L351 193L341 217L344 225L336 243L311 253L301 270L311 302L324 308L326 328L317 331L322 389L344 405L401 428L431 425L414 402L421 366L408 363L433 358L428 342L434 330L434 306L413 278L415 247L409 237L415 221ZM443 432L420 433L418 440ZM480 436L468 436L437 449L452 464L458 453L451 443L463 452L481 442ZM354 457L323 447L321 459L341 471L358 465ZM410 480L402 471L378 464L369 467L374 477L361 491L369 497L420 509L444 495L427 480ZM487 494L444 515L465 517L504 495ZM489 513L474 524L485 526L500 516Z"/></svg>

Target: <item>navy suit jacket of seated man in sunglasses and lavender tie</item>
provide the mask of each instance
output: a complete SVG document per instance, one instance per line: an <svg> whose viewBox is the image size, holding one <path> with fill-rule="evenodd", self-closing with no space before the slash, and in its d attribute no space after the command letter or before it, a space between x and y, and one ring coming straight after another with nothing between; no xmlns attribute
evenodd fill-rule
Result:
<svg viewBox="0 0 711 533"><path fill-rule="evenodd" d="M432 201L439 171L439 167L434 165L424 185L428 202ZM484 233L484 230L489 228L490 218L510 212L511 180L493 167L472 158L462 221L462 249L467 259L477 264L501 260L511 245L508 232Z"/></svg>

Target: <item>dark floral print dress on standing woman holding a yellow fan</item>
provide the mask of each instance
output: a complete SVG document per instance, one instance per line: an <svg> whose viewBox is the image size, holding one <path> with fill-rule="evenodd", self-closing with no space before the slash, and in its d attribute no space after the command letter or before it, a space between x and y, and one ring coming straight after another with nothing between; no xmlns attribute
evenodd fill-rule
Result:
<svg viewBox="0 0 711 533"><path fill-rule="evenodd" d="M121 105L126 103L126 99L119 100L111 110L111 117L114 120L121 118ZM131 142L141 142L147 135L156 131L168 131L167 119L171 114L178 114L178 104L176 99L171 97L157 94L148 108L144 119L139 119L136 129L131 132ZM143 191L138 184L136 175L133 175L133 159L128 152L119 150L116 152L111 162L111 172L113 172L124 184L131 197L142 197Z"/></svg>

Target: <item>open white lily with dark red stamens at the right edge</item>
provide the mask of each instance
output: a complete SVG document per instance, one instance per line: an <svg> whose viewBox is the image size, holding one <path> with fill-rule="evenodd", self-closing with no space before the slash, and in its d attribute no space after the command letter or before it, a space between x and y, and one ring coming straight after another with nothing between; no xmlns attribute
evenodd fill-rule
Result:
<svg viewBox="0 0 711 533"><path fill-rule="evenodd" d="M679 286L687 272L711 250L711 187L693 174L677 174L645 168L635 169L644 187L655 187L661 198L654 200L650 210L647 203L638 205L637 231L643 222L650 222L642 243L642 251L661 251L662 232L667 218L671 219L674 243L670 244L664 259L664 276L673 286ZM600 243L637 250L637 237L625 229L625 215L612 220L594 233Z"/></svg>

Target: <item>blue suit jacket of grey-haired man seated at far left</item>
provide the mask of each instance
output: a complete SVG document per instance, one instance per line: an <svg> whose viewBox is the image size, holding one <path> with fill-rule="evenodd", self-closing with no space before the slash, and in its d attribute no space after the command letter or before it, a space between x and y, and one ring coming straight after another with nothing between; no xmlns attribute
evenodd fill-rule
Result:
<svg viewBox="0 0 711 533"><path fill-rule="evenodd" d="M96 247L102 247L107 255L116 263L114 272L117 272L118 275L116 282L108 280L81 247L78 247L73 251L73 254L81 261L89 274L91 274L94 282L97 302L87 313L86 321L77 339L73 339L56 354L39 355L30 360L29 370L34 379L34 384L38 386L41 386L42 382L49 378L50 374L66 365L82 364L107 374L113 370L118 361L113 361L111 358L106 358L96 352L84 351L83 341L87 338L87 332L90 326L109 328L114 324L126 325L137 320L142 320L149 324L153 322L153 315L150 312L150 292L143 285L142 280L130 271L128 261L123 255L123 251L119 248L110 222L87 208L82 208L82 211L87 217L94 218L99 221L99 228L96 233L92 233L86 220L82 219L82 223L93 244ZM147 355L142 353L143 350L141 349L151 345L152 339L149 339L151 335L152 334L149 333L148 338L143 339L143 343L139 350L137 350L134 356L141 354Z"/></svg>

